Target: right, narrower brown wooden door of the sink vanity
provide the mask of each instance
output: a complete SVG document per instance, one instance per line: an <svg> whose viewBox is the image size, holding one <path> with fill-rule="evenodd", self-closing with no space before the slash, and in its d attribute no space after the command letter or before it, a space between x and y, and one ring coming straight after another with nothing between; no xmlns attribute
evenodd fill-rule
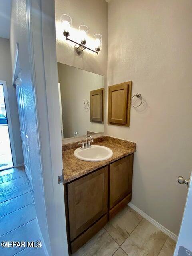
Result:
<svg viewBox="0 0 192 256"><path fill-rule="evenodd" d="M110 209L132 191L133 154L110 164Z"/></svg>

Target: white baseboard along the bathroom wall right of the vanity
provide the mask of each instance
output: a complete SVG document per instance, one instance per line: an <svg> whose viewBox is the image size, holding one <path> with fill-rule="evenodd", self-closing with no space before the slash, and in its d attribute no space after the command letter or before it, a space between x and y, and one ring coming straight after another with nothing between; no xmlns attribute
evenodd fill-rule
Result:
<svg viewBox="0 0 192 256"><path fill-rule="evenodd" d="M167 228L165 228L164 226L162 226L161 224L159 224L156 220L152 219L150 216L148 216L145 212L143 212L142 210L140 210L138 207L136 207L134 204L132 204L132 202L128 203L128 206L130 206L130 208L132 208L133 210L135 210L136 212L138 212L138 214L140 214L143 218L145 218L146 220L148 220L150 223L152 223L154 226L156 226L157 228L159 228L162 232L164 232L167 236L169 236L170 238L172 238L174 241L177 241L178 236L176 236L174 233L172 233L170 230L168 230Z"/></svg>

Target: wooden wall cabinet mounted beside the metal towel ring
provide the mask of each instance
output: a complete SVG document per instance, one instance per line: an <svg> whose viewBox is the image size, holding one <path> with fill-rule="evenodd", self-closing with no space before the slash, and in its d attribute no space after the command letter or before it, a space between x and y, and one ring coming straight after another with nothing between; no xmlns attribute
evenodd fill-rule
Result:
<svg viewBox="0 0 192 256"><path fill-rule="evenodd" d="M109 86L108 124L129 126L132 81Z"/></svg>

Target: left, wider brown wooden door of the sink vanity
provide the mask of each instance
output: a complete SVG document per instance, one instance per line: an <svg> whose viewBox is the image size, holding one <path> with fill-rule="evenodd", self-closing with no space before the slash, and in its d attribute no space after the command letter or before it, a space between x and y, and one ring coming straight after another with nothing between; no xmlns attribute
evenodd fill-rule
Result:
<svg viewBox="0 0 192 256"><path fill-rule="evenodd" d="M108 166L68 184L68 206L73 240L108 210Z"/></svg>

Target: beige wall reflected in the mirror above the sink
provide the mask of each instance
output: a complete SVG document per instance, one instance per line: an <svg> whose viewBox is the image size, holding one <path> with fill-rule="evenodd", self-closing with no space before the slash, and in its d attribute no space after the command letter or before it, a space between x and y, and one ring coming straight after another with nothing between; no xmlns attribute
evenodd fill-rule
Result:
<svg viewBox="0 0 192 256"><path fill-rule="evenodd" d="M87 131L104 132L103 123L90 122L90 104L84 108L84 102L90 102L90 91L104 87L104 76L58 63L58 78L64 138L73 137L75 131L78 136Z"/></svg>

